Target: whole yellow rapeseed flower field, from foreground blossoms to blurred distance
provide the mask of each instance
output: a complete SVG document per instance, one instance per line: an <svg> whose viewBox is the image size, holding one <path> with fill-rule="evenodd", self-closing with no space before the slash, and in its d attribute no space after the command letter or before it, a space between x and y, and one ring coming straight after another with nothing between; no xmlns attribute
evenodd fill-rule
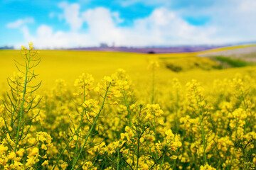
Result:
<svg viewBox="0 0 256 170"><path fill-rule="evenodd" d="M255 169L255 67L197 55L1 50L0 168Z"/></svg>

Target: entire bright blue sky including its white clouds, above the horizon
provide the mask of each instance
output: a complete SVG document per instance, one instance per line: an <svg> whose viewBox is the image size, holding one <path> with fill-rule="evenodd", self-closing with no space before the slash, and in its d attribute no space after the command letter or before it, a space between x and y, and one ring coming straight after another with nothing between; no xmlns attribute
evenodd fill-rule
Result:
<svg viewBox="0 0 256 170"><path fill-rule="evenodd" d="M255 8L255 0L1 0L0 47L250 42Z"/></svg>

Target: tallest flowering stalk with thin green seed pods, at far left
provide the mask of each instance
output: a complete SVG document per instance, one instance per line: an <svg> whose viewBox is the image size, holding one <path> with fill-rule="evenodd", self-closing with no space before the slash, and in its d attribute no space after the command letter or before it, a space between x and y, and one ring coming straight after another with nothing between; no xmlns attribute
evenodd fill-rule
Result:
<svg viewBox="0 0 256 170"><path fill-rule="evenodd" d="M24 63L16 62L18 74L7 79L10 90L4 100L8 113L5 118L6 133L14 142L14 146L11 146L14 152L18 148L18 142L28 133L29 128L25 130L25 126L31 125L31 121L40 112L39 110L36 115L31 116L31 109L36 108L41 101L40 97L33 94L41 86L41 82L36 85L33 82L38 76L33 69L41 62L41 58L38 57L39 52L33 50L33 42L29 42L28 45L29 50L21 47Z"/></svg>

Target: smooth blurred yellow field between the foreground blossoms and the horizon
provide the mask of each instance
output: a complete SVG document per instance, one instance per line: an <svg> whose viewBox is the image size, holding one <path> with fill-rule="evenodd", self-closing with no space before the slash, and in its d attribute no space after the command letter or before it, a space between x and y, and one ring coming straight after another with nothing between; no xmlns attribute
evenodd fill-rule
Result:
<svg viewBox="0 0 256 170"><path fill-rule="evenodd" d="M36 68L40 74L38 79L43 80L42 88L53 86L56 79L64 79L68 85L73 82L82 73L89 73L99 81L105 75L110 75L117 69L122 68L132 77L135 82L146 82L151 79L148 64L150 61L157 61L160 64L156 76L159 84L166 84L168 80L174 77L185 83L191 79L206 82L213 79L224 79L233 77L240 72L245 74L252 70L250 67L233 68L225 70L213 69L217 63L204 57L196 57L208 52L222 50L232 50L242 47L252 47L255 45L241 45L235 47L223 47L220 49L207 50L203 52L177 53L177 54L140 54L129 52L88 52L71 50L40 50L42 58L41 64ZM18 50L0 50L0 84L6 85L6 76L11 76L17 72L14 60L22 61L21 53ZM200 64L200 67L194 67L194 62ZM166 67L166 63L174 64L176 67L182 67L184 72L172 72ZM192 68L192 69L191 69ZM188 72L189 70L189 72ZM225 74L223 74L225 72Z"/></svg>

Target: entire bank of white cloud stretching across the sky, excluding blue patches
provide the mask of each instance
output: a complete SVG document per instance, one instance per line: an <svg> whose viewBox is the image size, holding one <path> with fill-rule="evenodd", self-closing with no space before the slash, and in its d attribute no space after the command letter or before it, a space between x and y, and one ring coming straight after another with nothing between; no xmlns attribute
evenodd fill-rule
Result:
<svg viewBox="0 0 256 170"><path fill-rule="evenodd" d="M145 46L224 44L255 40L256 18L252 16L256 15L256 3L254 0L233 0L230 6L230 1L222 5L217 1L214 6L203 8L202 11L191 8L186 11L156 8L149 16L135 19L132 26L119 26L124 20L118 12L110 11L109 8L80 11L78 4L62 2L59 5L63 8L62 17L70 25L70 31L53 31L53 28L46 25L39 26L36 35L31 35L26 26L21 31L25 42L33 41L39 48L97 46L100 42ZM191 13L194 16L210 16L210 21L203 26L193 26L183 18L183 15L189 16ZM87 30L82 32L84 23L87 24Z"/></svg>

